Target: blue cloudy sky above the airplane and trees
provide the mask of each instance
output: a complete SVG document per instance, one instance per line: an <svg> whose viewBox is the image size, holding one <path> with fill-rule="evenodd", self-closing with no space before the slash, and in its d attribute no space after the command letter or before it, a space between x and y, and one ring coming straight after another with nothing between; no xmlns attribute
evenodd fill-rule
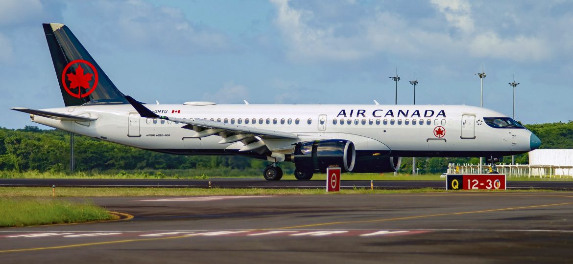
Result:
<svg viewBox="0 0 573 264"><path fill-rule="evenodd" d="M573 1L0 1L0 127L62 107L41 23L142 102L480 105L573 119ZM41 125L38 125L41 126ZM41 126L42 128L47 128Z"/></svg>

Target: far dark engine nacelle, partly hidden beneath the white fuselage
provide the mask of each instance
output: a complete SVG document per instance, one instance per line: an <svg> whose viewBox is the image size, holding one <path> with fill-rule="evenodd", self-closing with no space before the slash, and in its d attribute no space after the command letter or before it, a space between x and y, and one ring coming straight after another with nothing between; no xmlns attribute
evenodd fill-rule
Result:
<svg viewBox="0 0 573 264"><path fill-rule="evenodd" d="M400 168L402 157L380 157L372 153L360 153L356 157L353 173L393 173Z"/></svg>

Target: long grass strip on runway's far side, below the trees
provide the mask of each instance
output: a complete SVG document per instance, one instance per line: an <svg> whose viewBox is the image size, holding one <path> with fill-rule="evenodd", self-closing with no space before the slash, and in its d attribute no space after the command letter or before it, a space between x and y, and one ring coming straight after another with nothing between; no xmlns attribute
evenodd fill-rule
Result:
<svg viewBox="0 0 573 264"><path fill-rule="evenodd" d="M201 173L197 175L197 173ZM417 174L406 173L344 173L342 179L351 180L374 180L374 181L445 181L440 174ZM325 174L315 174L312 179L324 180ZM0 171L0 178L12 179L262 179L262 170L142 170L142 171L93 171L93 172L39 172L39 171ZM292 174L285 174L282 179L295 179ZM508 181L573 181L573 177L566 178L540 178L540 177L507 177Z"/></svg>

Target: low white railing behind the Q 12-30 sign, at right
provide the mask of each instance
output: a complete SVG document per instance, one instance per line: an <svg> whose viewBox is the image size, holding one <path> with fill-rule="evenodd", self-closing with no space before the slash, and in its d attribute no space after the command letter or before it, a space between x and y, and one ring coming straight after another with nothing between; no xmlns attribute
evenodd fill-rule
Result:
<svg viewBox="0 0 573 264"><path fill-rule="evenodd" d="M489 166L484 166L482 173L489 171ZM556 165L496 165L497 172L508 177L539 177L539 178L573 178L573 166ZM448 173L477 174L480 173L480 166L474 164L448 165Z"/></svg>

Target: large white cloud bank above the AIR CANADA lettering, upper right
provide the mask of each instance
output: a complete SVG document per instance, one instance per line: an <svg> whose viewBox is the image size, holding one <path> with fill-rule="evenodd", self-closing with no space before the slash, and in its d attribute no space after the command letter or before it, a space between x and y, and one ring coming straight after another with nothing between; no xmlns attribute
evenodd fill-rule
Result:
<svg viewBox="0 0 573 264"><path fill-rule="evenodd" d="M352 34L340 34L341 25L316 21L314 12L289 5L289 0L270 0L277 9L275 25L286 42L286 55L293 61L360 61L379 55L416 59L473 58L543 61L549 59L551 41L546 35L507 35L497 28L476 28L467 0L431 0L443 18L426 18L429 25L413 23L395 11L376 8L349 23ZM486 18L484 18L486 19ZM462 34L452 35L446 27ZM442 24L442 25L441 25ZM320 25L320 26L319 26ZM348 26L348 25L344 25ZM479 34L475 34L479 32ZM483 33L485 32L485 33Z"/></svg>

